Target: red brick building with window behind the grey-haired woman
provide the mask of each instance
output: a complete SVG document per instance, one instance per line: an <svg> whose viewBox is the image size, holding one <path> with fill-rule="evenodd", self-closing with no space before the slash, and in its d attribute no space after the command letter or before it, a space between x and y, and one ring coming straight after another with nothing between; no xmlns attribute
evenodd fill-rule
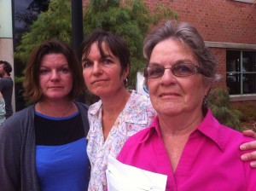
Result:
<svg viewBox="0 0 256 191"><path fill-rule="evenodd" d="M85 2L85 1L84 1ZM256 4L254 0L145 0L149 9L158 3L171 6L178 21L193 24L218 58L220 82L233 103L256 107Z"/></svg>

